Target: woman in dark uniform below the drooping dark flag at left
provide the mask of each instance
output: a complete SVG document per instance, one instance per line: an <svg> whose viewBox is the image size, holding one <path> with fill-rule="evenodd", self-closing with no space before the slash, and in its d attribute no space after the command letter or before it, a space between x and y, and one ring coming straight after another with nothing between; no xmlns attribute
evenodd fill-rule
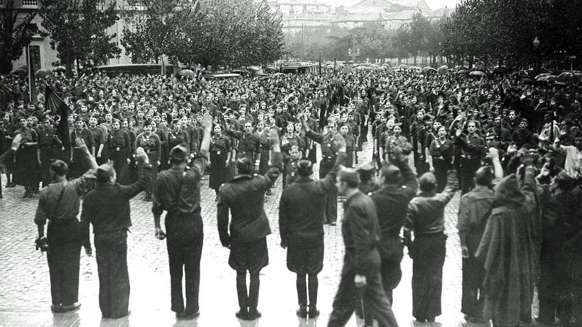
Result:
<svg viewBox="0 0 582 327"><path fill-rule="evenodd" d="M63 159L63 143L55 134L52 127L52 120L48 117L42 119L42 128L38 132L38 165L40 165L40 174L42 187L48 186L52 182L51 178L51 160Z"/></svg>

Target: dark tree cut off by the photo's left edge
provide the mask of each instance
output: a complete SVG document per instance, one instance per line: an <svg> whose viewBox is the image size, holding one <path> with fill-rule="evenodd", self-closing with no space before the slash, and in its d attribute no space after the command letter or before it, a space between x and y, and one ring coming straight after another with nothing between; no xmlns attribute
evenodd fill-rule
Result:
<svg viewBox="0 0 582 327"><path fill-rule="evenodd" d="M29 13L19 21L14 0L8 0L0 9L0 74L12 70L12 62L22 56L23 48L32 41L34 30L29 28L36 12Z"/></svg>

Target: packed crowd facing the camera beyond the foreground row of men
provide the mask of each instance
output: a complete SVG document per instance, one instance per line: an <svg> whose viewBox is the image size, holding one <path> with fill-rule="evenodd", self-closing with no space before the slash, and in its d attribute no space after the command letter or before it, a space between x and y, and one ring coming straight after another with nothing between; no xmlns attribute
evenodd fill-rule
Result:
<svg viewBox="0 0 582 327"><path fill-rule="evenodd" d="M141 166L134 161L137 147L144 148L154 166L152 174L156 175L168 168L168 152L175 145L186 145L191 157L197 154L205 112L212 115L215 123L207 173L217 200L219 187L233 176L237 158L252 158L255 172L267 171L271 150L268 135L272 129L279 132L284 155L283 187L293 182L301 158L314 163L321 158L320 176L325 176L335 162L333 140L338 137L346 141L348 167L362 163L358 153L363 143L373 143L375 163L362 170L381 168L384 161L391 161L395 149L410 148L417 175L434 173L436 193L447 191L451 169L458 172L462 194L473 190L475 173L495 159L488 149L496 149L494 153L499 155L506 175L519 172L517 167L523 159L530 158L535 169L544 172L538 187L548 188L545 202L538 203L541 235L535 239L539 247L532 251L537 251L533 257L540 261L541 278L534 278L534 282L540 283L540 296L546 298L542 305L551 303L554 309L562 308L558 317L563 322L582 323L581 294L574 292L574 286L582 289L582 252L575 254L572 242L568 243L576 237L580 239L582 226L579 86L407 70L329 72L323 76L274 74L225 80L83 75L76 79L51 76L38 81L39 101L33 103L19 91L26 90L25 81L6 78L0 83L0 144L7 149L16 134L22 135L15 161L3 167L5 187L24 186L24 197L33 197L41 184L51 182L51 159L69 161L69 177L86 172L82 154L68 145L74 144L76 138L84 140L98 163L112 160L122 184L139 176ZM60 118L44 108L41 83L51 85L70 107L68 144L59 139L55 130ZM565 176L569 182L560 182ZM369 179L363 178L362 186L370 186L370 191L377 189L379 186ZM337 190L330 193L324 223L335 225ZM265 193L265 201L270 194L271 191ZM566 198L572 212L546 209L546 204L559 208L558 202ZM143 200L152 200L151 190L145 192ZM570 214L573 219L566 216ZM411 228L414 223L409 225ZM563 254L560 244L569 244L568 255ZM434 262L437 269L430 265L415 265L414 269L436 271L437 277L442 278L444 255L438 253L442 260ZM423 257L427 258L419 258ZM538 265L528 268L537 271ZM556 280L568 282L556 284ZM416 283L420 285L413 288L424 287L425 291L437 287L422 278ZM555 287L548 287L548 283ZM563 295L567 292L572 296L564 304ZM437 293L431 300L440 303L440 289ZM418 303L426 300L414 299ZM547 311L542 310L542 319L553 321L549 318L553 313L548 313L551 309L543 309ZM439 311L423 311L418 318L434 319ZM482 318L478 316L471 312L467 318Z"/></svg>

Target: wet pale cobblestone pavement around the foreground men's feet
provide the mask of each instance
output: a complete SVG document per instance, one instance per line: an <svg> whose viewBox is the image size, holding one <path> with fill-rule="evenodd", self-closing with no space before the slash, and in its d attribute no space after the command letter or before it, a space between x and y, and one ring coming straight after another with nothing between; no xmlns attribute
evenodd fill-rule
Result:
<svg viewBox="0 0 582 327"><path fill-rule="evenodd" d="M360 162L369 160L371 142L364 144ZM317 173L315 174L317 175ZM2 176L3 184L6 179ZM201 260L200 311L198 319L176 321L170 311L170 278L165 241L154 238L151 202L132 201L133 227L127 238L129 276L131 282L131 315L122 319L101 319L98 306L97 264L94 257L81 254L79 300L80 310L51 314L48 266L45 254L34 250L36 225L33 218L38 197L23 199L22 187L3 189L0 200L0 326L325 326L332 309L333 296L339 283L343 258L340 224L325 226L325 264L320 273L318 319L299 319L295 315L297 293L295 276L286 268L285 250L279 247L278 181L265 204L272 234L267 237L269 265L261 272L259 310L262 318L241 322L235 318L238 309L235 271L228 266L229 251L220 244L216 223L214 191L208 180L201 187L204 219L204 248ZM466 324L460 313L461 254L457 236L456 212L459 194L446 207L446 260L443 273L442 315L433 324L418 324L411 316L412 261L405 255L402 282L394 292L393 311L400 326L487 326ZM342 206L338 205L339 214ZM339 219L338 219L339 222ZM91 237L93 243L93 237ZM406 251L406 250L405 250ZM535 311L535 310L534 310ZM535 312L534 312L535 313ZM348 326L356 326L355 318Z"/></svg>

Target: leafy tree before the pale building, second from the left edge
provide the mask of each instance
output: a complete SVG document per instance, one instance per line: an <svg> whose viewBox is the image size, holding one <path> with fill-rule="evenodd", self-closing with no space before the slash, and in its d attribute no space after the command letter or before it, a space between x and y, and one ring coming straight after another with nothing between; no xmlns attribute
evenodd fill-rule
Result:
<svg viewBox="0 0 582 327"><path fill-rule="evenodd" d="M118 20L116 2L109 5L100 0L40 0L43 36L51 38L51 48L57 51L67 72L73 61L93 61L95 65L115 58L121 52L111 40L116 34L108 34L108 27Z"/></svg>

